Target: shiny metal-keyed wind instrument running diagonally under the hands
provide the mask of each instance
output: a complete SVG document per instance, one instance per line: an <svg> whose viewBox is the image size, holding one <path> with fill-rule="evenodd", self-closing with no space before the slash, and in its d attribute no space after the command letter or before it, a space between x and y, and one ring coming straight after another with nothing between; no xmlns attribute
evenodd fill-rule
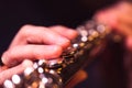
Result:
<svg viewBox="0 0 132 88"><path fill-rule="evenodd" d="M75 74L103 50L110 34L107 25L94 20L76 29L78 37L72 41L59 58L34 62L22 74L13 75L3 88L65 88Z"/></svg>

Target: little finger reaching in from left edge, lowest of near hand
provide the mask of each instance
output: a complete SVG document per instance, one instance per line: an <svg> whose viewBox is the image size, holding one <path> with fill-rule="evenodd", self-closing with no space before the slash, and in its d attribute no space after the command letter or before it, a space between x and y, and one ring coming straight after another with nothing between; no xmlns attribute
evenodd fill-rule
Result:
<svg viewBox="0 0 132 88"><path fill-rule="evenodd" d="M21 74L26 67L30 67L32 65L33 65L33 63L31 61L25 59L22 64L15 66L15 67L2 70L0 73L0 85L2 85L2 82L6 79L10 78L12 75Z"/></svg>

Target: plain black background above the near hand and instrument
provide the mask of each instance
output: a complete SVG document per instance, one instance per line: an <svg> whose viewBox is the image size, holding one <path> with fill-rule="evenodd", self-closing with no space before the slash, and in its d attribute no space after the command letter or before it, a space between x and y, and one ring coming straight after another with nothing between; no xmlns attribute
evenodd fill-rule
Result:
<svg viewBox="0 0 132 88"><path fill-rule="evenodd" d="M24 24L75 28L114 0L1 0L0 53Z"/></svg>

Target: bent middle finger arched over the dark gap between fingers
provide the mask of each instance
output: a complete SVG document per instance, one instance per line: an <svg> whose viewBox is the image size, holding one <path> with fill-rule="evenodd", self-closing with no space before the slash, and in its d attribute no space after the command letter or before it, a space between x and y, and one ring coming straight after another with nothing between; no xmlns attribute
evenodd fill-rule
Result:
<svg viewBox="0 0 132 88"><path fill-rule="evenodd" d="M19 31L10 47L23 44L57 44L65 48L70 42L47 28L25 25Z"/></svg>

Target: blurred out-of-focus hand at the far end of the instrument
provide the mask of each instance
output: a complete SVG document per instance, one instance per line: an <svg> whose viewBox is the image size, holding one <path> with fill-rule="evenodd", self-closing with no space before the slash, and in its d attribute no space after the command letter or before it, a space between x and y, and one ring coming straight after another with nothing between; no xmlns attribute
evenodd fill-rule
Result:
<svg viewBox="0 0 132 88"><path fill-rule="evenodd" d="M119 2L110 8L98 11L95 15L98 22L110 25L125 36L125 46L132 51L132 3Z"/></svg>

